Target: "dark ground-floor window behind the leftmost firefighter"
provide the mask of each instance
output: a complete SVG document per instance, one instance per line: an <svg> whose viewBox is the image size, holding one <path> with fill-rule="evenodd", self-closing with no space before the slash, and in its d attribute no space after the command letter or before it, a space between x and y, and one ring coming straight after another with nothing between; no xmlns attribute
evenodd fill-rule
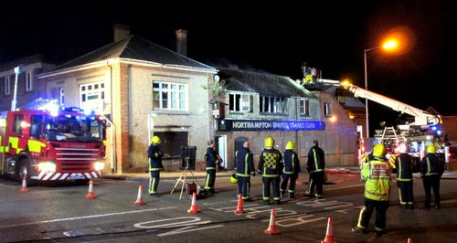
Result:
<svg viewBox="0 0 457 243"><path fill-rule="evenodd" d="M181 146L188 146L188 132L154 132L161 140L160 149L167 156L181 156Z"/></svg>

